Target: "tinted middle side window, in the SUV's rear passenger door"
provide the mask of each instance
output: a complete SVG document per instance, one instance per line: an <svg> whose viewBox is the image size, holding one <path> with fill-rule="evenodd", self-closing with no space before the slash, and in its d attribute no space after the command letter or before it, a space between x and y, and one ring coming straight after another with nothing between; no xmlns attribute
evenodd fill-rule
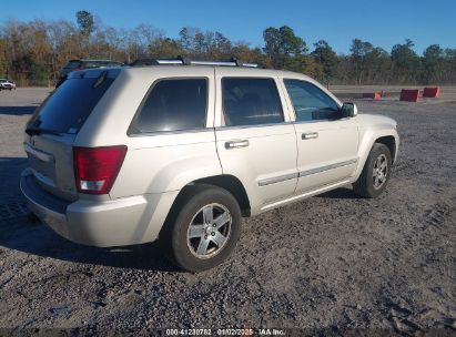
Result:
<svg viewBox="0 0 456 337"><path fill-rule="evenodd" d="M226 126L284 121L281 99L273 79L224 78L222 98Z"/></svg>

